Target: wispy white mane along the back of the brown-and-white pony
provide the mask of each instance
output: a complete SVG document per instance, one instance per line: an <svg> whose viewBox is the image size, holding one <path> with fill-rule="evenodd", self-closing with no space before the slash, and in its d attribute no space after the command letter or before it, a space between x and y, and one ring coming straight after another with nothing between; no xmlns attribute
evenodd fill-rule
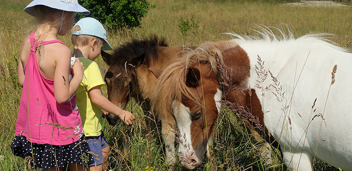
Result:
<svg viewBox="0 0 352 171"><path fill-rule="evenodd" d="M259 30L253 30L258 36L251 35L239 35L236 33L224 33L235 37L231 41L238 43L248 43L253 41L262 41L262 42L291 42L291 41L310 41L312 43L319 43L331 48L334 48L339 51L349 52L348 49L339 47L335 42L327 39L327 37L334 36L329 33L310 33L303 35L301 37L295 38L291 30L286 26L284 29L276 27L267 27L267 26L257 26ZM276 35L273 30L279 32L279 35Z"/></svg>

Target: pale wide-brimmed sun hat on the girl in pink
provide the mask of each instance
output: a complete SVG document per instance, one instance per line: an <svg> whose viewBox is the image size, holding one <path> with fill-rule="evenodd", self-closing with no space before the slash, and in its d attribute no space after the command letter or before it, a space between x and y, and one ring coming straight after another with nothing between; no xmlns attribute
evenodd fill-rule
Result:
<svg viewBox="0 0 352 171"><path fill-rule="evenodd" d="M24 11L31 16L34 16L34 6L43 5L53 9L83 13L89 15L91 12L78 4L78 0L34 0L30 3Z"/></svg>

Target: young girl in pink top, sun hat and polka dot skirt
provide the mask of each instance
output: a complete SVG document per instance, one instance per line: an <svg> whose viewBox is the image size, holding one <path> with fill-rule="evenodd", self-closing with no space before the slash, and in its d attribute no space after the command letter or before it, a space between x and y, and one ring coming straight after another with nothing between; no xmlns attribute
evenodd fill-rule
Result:
<svg viewBox="0 0 352 171"><path fill-rule="evenodd" d="M83 77L78 61L70 69L70 49L57 35L72 27L77 12L89 14L77 0L34 0L24 10L38 22L22 43L18 79L23 87L11 144L14 155L34 168L85 170L93 162L76 107L75 92ZM72 77L71 77L72 76Z"/></svg>

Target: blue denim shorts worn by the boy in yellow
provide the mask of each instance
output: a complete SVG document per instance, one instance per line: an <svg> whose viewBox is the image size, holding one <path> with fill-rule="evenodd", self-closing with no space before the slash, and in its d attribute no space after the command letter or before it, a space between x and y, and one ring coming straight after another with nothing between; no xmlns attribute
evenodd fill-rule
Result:
<svg viewBox="0 0 352 171"><path fill-rule="evenodd" d="M94 163L90 164L90 166L102 164L104 162L102 149L108 146L108 143L106 142L106 139L104 137L104 132L102 131L102 134L100 134L99 136L89 136L86 137L86 139L88 141L91 152L94 152L98 155L93 156Z"/></svg>

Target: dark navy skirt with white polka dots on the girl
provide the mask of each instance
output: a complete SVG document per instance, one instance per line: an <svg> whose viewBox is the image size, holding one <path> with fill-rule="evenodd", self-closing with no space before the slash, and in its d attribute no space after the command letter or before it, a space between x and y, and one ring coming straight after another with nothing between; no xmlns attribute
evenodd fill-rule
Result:
<svg viewBox="0 0 352 171"><path fill-rule="evenodd" d="M84 135L67 145L31 144L25 136L18 135L11 144L11 150L14 155L28 159L35 169L63 167L65 163L86 165L94 162L92 154L87 153L90 148Z"/></svg>

